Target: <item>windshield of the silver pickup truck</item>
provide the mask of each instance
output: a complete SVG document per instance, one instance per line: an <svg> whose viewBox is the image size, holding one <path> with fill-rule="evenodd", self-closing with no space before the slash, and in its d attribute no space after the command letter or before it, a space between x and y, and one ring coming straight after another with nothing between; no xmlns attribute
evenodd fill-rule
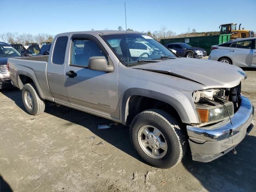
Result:
<svg viewBox="0 0 256 192"><path fill-rule="evenodd" d="M102 38L125 65L162 56L176 58L168 48L144 34L110 34L102 35Z"/></svg>

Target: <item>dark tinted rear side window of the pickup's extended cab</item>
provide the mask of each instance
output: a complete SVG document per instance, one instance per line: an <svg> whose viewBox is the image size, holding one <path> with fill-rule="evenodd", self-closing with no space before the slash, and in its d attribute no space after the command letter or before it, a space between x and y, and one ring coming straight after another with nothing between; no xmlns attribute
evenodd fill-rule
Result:
<svg viewBox="0 0 256 192"><path fill-rule="evenodd" d="M68 36L60 36L57 38L52 54L52 62L54 64L62 65L64 63L67 43Z"/></svg>

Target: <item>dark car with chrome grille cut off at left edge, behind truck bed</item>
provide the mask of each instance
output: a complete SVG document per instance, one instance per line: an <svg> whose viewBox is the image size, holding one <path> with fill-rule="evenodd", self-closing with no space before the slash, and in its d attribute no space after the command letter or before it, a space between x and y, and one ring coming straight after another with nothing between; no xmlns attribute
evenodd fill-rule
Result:
<svg viewBox="0 0 256 192"><path fill-rule="evenodd" d="M10 44L0 42L0 89L13 87L7 68L7 60L8 58L20 56L20 52Z"/></svg>

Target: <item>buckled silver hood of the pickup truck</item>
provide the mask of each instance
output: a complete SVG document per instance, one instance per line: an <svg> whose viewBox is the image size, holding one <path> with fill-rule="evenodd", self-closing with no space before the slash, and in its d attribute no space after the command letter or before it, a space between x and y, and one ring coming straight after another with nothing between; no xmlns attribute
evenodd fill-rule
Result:
<svg viewBox="0 0 256 192"><path fill-rule="evenodd" d="M231 88L246 77L244 71L237 66L194 58L168 59L132 68L175 76L202 84L204 88Z"/></svg>

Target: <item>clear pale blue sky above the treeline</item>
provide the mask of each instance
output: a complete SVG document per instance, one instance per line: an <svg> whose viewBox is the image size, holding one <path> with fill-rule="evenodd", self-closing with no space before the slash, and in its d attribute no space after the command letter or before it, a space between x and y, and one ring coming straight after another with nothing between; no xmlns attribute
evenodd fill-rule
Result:
<svg viewBox="0 0 256 192"><path fill-rule="evenodd" d="M256 31L256 0L0 0L0 34L125 29L124 2L133 30L218 31L234 22Z"/></svg>

